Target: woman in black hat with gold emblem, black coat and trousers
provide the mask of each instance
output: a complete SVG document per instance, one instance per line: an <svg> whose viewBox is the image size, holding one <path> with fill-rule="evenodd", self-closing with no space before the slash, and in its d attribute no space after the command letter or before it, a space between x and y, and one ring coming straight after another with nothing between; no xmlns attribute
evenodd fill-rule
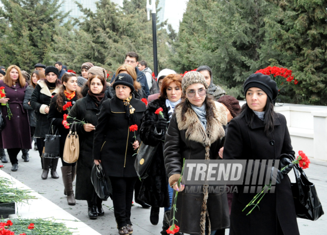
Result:
<svg viewBox="0 0 327 235"><path fill-rule="evenodd" d="M135 182L136 151L141 143L138 130L130 131L131 125L141 125L145 104L135 99L133 78L119 74L112 84L116 96L104 102L94 134L93 158L102 163L105 175L112 185L114 216L119 235L132 234L131 206ZM134 139L136 136L136 139Z"/></svg>

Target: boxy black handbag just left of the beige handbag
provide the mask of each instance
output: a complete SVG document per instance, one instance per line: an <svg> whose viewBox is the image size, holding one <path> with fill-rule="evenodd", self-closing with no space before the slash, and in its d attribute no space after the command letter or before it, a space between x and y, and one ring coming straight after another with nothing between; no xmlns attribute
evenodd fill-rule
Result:
<svg viewBox="0 0 327 235"><path fill-rule="evenodd" d="M59 158L60 154L60 135L58 134L58 128L56 128L56 131L54 133L54 128L52 123L54 122L53 118L51 120L50 128L48 131L48 134L46 135L46 138L44 140L44 153L42 154L42 157L45 158Z"/></svg>

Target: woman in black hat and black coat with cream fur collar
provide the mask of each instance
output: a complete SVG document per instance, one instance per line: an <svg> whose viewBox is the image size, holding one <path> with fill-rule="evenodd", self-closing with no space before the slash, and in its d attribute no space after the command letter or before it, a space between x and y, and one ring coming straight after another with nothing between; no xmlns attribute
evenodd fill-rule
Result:
<svg viewBox="0 0 327 235"><path fill-rule="evenodd" d="M56 172L58 158L42 157L44 148L44 139L50 129L50 123L48 121L49 106L53 95L58 93L61 86L61 81L58 79L59 70L54 66L48 66L45 71L46 79L38 80L32 96L30 105L36 112L36 127L34 137L37 139L36 143L38 146L40 157L42 158L43 172L41 175L42 179L48 178L49 168L51 165L51 177L58 179L59 175Z"/></svg>

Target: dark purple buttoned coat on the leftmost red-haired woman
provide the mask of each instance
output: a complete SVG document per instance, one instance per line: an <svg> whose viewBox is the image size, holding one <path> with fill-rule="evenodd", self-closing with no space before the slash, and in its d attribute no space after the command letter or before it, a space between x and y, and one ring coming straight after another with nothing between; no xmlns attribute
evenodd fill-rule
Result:
<svg viewBox="0 0 327 235"><path fill-rule="evenodd" d="M12 117L9 118L7 107L1 105L2 116L5 119L6 125L1 132L2 142L0 148L3 149L32 149L30 124L28 121L27 110L23 108L23 100L25 96L25 89L28 86L20 87L17 82L15 86L7 86L0 80L0 86L4 87L6 98L9 98L9 108Z"/></svg>

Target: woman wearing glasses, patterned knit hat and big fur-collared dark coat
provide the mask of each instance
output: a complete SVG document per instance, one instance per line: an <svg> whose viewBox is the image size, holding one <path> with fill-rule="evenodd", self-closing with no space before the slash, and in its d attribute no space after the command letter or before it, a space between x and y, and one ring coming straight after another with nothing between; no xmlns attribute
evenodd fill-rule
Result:
<svg viewBox="0 0 327 235"><path fill-rule="evenodd" d="M183 192L175 184L181 174L183 159L219 159L218 151L225 136L225 108L207 95L208 84L199 72L188 72L182 81L185 99L174 109L165 137L163 155L169 185L178 191L175 215L179 232L192 235L224 235L229 226L226 193ZM171 213L172 215L172 213ZM170 216L172 218L172 216Z"/></svg>

